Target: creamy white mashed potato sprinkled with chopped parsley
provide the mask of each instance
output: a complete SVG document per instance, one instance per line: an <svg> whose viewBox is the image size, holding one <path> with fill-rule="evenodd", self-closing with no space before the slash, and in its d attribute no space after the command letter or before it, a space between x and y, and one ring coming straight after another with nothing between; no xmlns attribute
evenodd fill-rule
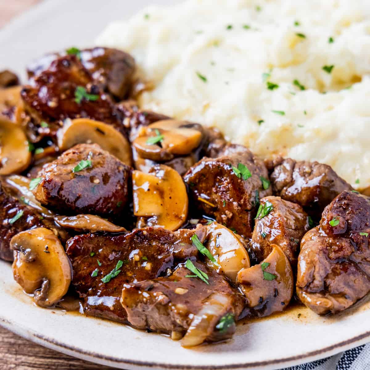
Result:
<svg viewBox="0 0 370 370"><path fill-rule="evenodd" d="M154 82L142 107L370 186L368 0L189 0L111 24L97 43L130 52Z"/></svg>

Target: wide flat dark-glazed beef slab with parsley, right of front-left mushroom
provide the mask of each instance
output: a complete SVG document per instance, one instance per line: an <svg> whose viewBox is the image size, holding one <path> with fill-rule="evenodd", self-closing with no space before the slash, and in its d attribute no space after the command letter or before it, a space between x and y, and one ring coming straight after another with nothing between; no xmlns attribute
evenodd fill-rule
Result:
<svg viewBox="0 0 370 370"><path fill-rule="evenodd" d="M124 284L155 279L178 262L195 256L198 250L191 242L195 233L203 241L203 226L176 232L148 227L127 234L85 234L68 240L73 285L84 298L84 310L92 316L127 322L120 303ZM120 271L117 276L111 273L115 268ZM102 281L109 274L111 280Z"/></svg>

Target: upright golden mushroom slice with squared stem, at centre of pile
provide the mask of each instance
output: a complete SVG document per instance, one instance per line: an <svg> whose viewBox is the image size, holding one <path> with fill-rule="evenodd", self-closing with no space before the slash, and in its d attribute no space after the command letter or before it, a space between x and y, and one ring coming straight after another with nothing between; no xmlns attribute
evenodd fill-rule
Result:
<svg viewBox="0 0 370 370"><path fill-rule="evenodd" d="M188 195L181 176L171 167L155 165L149 173L132 172L134 215L147 226L175 231L188 216ZM138 225L144 227L143 222Z"/></svg>

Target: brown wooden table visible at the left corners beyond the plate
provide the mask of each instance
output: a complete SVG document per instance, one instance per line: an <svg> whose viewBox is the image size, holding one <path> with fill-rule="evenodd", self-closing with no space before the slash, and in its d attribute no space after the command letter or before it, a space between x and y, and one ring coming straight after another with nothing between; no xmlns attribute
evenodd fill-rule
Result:
<svg viewBox="0 0 370 370"><path fill-rule="evenodd" d="M40 0L0 0L0 27ZM56 1L56 0L54 0ZM111 367L78 360L29 342L0 326L1 370L105 370Z"/></svg>

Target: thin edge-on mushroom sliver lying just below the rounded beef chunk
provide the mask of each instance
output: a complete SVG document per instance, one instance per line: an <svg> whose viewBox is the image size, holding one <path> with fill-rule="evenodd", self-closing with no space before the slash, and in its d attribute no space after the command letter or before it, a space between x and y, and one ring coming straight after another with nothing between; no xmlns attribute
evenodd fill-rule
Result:
<svg viewBox="0 0 370 370"><path fill-rule="evenodd" d="M125 232L125 228L114 225L104 218L95 215L77 215L77 216L55 216L55 222L65 229L75 231L106 231L106 232Z"/></svg>

